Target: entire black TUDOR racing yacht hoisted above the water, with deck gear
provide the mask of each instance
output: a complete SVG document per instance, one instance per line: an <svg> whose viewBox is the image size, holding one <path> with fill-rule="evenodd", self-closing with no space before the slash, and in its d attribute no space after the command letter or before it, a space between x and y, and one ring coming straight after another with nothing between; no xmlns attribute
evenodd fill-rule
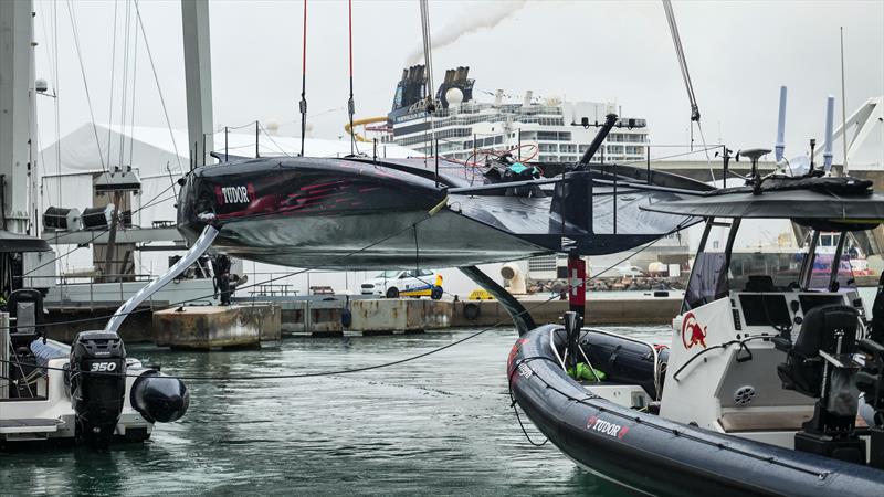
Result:
<svg viewBox="0 0 884 497"><path fill-rule="evenodd" d="M557 165L565 172L550 178L508 156L478 167L369 157L203 166L183 182L178 226L190 242L212 226L215 250L252 261L390 268L615 253L696 222L641 208L712 187L644 167L590 165L615 124L609 116L583 159Z"/></svg>

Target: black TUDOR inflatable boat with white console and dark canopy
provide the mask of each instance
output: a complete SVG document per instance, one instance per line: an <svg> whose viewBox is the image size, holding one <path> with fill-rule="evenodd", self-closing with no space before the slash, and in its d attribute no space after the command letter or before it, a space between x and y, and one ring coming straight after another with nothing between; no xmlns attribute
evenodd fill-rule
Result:
<svg viewBox="0 0 884 497"><path fill-rule="evenodd" d="M653 495L884 495L884 286L869 319L846 263L846 234L884 220L871 182L774 178L650 209L706 219L671 343L585 329L578 305L509 355L527 417ZM803 248L737 264L755 218L796 222Z"/></svg>

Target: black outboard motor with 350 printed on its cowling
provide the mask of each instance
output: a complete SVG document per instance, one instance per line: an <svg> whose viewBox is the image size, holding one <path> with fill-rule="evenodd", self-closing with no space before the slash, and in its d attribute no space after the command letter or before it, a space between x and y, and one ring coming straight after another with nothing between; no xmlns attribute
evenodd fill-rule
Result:
<svg viewBox="0 0 884 497"><path fill-rule="evenodd" d="M126 393L126 349L115 331L82 331L71 345L71 399L76 437L106 446Z"/></svg>

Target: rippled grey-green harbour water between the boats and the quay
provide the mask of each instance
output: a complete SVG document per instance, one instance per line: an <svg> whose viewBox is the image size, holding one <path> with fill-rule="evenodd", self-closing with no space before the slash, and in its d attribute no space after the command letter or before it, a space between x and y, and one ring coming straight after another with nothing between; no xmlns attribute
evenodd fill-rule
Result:
<svg viewBox="0 0 884 497"><path fill-rule="evenodd" d="M622 331L622 330L621 330ZM277 349L129 356L176 374L356 368L470 335L285 340ZM665 340L663 329L636 336ZM297 380L189 382L190 410L146 444L0 453L2 495L623 495L518 427L504 371L515 331L415 362ZM528 426L537 440L543 436Z"/></svg>

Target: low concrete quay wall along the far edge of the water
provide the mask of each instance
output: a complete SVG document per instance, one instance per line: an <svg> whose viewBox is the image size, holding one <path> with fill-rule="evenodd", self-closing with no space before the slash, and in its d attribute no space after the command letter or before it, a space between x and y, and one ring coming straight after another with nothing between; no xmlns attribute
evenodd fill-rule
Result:
<svg viewBox="0 0 884 497"><path fill-rule="evenodd" d="M567 300L540 296L520 299L537 324L559 322ZM669 297L597 297L587 300L589 326L666 325L677 314L680 294ZM349 308L350 322L344 326ZM51 308L50 337L71 342L77 332L102 329L115 306ZM151 316L152 315L152 316ZM120 328L126 342L154 342L160 347L214 350L272 345L283 336L368 336L414 334L452 327L512 327L513 320L497 300L430 300L415 298L274 299L239 302L233 306L186 306L131 314Z"/></svg>

